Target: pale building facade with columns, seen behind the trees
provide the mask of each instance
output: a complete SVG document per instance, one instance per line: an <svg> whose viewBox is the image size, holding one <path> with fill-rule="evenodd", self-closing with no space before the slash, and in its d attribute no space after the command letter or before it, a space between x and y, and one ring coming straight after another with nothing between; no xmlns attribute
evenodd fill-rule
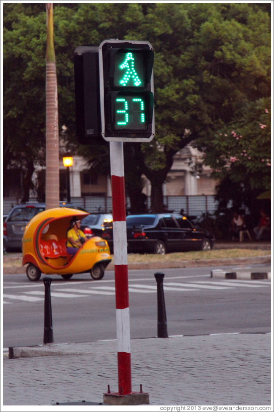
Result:
<svg viewBox="0 0 274 412"><path fill-rule="evenodd" d="M217 181L210 178L210 169L200 167L202 153L197 149L186 146L174 155L172 168L163 184L164 196L197 196L214 195ZM60 170L60 200L66 200L67 196L67 170L62 158L59 163ZM39 177L39 179L38 179ZM4 197L22 197L21 171L11 169L9 178L4 187ZM149 180L143 176L143 193L150 196L151 186ZM30 198L37 198L37 182L45 179L45 168L37 165L33 173L34 189L30 192ZM45 183L43 183L45 184ZM69 185L71 198L86 196L111 197L111 178L95 171L90 171L87 161L78 155L73 156L73 164L69 168Z"/></svg>

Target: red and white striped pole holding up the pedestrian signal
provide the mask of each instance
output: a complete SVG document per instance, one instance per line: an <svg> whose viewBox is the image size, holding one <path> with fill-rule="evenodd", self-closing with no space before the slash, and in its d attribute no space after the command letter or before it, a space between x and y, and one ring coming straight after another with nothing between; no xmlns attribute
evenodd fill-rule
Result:
<svg viewBox="0 0 274 412"><path fill-rule="evenodd" d="M132 393L123 142L110 142L119 395Z"/></svg>

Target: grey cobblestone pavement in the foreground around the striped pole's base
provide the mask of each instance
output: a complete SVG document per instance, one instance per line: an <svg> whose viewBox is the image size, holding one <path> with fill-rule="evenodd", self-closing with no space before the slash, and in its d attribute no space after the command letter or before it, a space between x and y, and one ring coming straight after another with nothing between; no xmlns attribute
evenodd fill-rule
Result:
<svg viewBox="0 0 274 412"><path fill-rule="evenodd" d="M6 405L103 403L108 385L111 392L118 391L116 341L14 348L15 356L20 350L29 357L4 357L1 410L25 410ZM270 406L270 356L270 334L134 339L132 391L139 392L142 384L149 394L149 405L134 410L160 410L159 405ZM114 410L88 410L101 407ZM79 410L62 408L54 410Z"/></svg>

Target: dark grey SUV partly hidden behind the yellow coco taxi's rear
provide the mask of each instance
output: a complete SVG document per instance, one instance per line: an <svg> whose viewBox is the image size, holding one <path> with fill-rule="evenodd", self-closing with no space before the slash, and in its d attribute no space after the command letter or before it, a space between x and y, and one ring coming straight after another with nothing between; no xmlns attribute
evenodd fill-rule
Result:
<svg viewBox="0 0 274 412"><path fill-rule="evenodd" d="M70 207L85 211L72 203L60 202L60 207ZM21 250L22 237L28 222L45 210L45 203L24 203L12 208L3 224L3 246L6 252Z"/></svg>

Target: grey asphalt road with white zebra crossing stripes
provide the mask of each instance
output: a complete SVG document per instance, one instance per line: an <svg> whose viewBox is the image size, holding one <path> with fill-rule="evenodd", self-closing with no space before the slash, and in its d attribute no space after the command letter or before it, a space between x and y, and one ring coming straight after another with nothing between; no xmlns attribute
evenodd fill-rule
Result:
<svg viewBox="0 0 274 412"><path fill-rule="evenodd" d="M258 270L257 265L249 268ZM235 267L222 267L232 269ZM269 271L269 265L259 268ZM157 336L155 272L163 272L168 335L270 332L270 281L212 279L216 267L130 270L131 338ZM116 339L114 271L69 281L51 276L55 343ZM44 283L4 275L3 346L43 344Z"/></svg>

